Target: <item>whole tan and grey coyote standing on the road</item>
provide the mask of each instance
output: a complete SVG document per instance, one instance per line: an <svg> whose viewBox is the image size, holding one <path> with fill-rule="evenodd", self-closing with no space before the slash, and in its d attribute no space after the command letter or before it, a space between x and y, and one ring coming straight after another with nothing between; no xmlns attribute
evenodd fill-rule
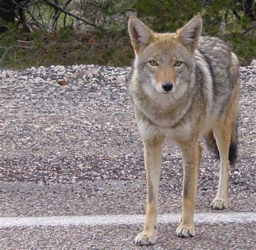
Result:
<svg viewBox="0 0 256 250"><path fill-rule="evenodd" d="M228 171L237 149L238 59L222 40L200 37L200 16L176 33L153 32L134 16L128 26L135 53L130 93L147 177L145 226L135 242L156 242L164 141L179 145L183 154L183 205L176 235L192 237L202 136L220 156L218 192L211 206L220 210L228 205Z"/></svg>

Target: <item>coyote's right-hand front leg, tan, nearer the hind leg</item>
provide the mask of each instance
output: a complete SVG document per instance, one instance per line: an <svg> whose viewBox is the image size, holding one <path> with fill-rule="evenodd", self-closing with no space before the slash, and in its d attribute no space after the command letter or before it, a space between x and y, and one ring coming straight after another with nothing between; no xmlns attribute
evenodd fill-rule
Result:
<svg viewBox="0 0 256 250"><path fill-rule="evenodd" d="M176 230L179 237L194 236L194 207L196 204L198 169L201 146L198 141L181 145L183 151L183 205L181 223Z"/></svg>

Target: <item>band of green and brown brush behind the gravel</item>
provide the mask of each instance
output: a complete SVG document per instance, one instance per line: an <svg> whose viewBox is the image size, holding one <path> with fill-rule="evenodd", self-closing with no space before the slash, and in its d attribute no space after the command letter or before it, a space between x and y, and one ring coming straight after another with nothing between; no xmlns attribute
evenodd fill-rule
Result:
<svg viewBox="0 0 256 250"><path fill-rule="evenodd" d="M59 0L60 5L64 3L64 0ZM241 64L248 65L256 58L255 21L248 16L243 3L239 0L77 1L68 6L68 11L96 27L86 30L90 25L85 27L83 22L60 13L53 27L56 31L52 33L46 31L46 26L52 20L54 9L36 1L37 5L33 7L35 18L43 26L35 25L28 15L30 24L37 27L31 33L24 32L21 24L15 26L0 18L0 25L9 29L0 36L0 67L77 63L130 65L133 57L127 33L130 15L138 16L157 32L174 32L192 17L200 15L203 18L203 35L224 39L238 54Z"/></svg>

